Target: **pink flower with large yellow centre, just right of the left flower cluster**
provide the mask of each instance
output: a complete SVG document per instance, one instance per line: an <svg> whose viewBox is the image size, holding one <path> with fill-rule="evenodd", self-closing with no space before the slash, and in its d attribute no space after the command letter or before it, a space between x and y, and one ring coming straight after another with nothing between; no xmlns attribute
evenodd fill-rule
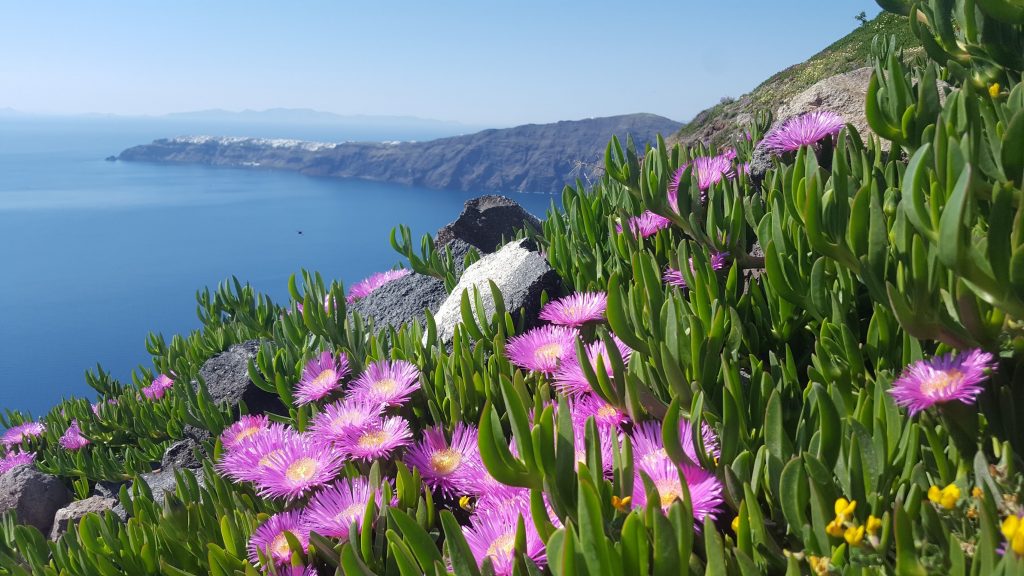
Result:
<svg viewBox="0 0 1024 576"><path fill-rule="evenodd" d="M476 428L465 424L456 425L451 443L443 428L427 428L423 440L406 454L406 462L420 470L424 482L449 495L472 491L470 466L479 459Z"/></svg>

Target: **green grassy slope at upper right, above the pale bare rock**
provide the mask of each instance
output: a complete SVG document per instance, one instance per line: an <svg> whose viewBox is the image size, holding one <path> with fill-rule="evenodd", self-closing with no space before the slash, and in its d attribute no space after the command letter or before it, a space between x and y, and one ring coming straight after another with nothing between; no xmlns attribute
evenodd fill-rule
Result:
<svg viewBox="0 0 1024 576"><path fill-rule="evenodd" d="M697 114L677 134L667 139L670 143L683 142L686 146L698 141L712 146L721 143L733 130L750 122L759 110L775 111L779 105L820 80L867 66L871 40L876 36L895 36L897 45L903 48L920 46L906 17L882 12L807 61L773 75L739 98L720 102Z"/></svg>

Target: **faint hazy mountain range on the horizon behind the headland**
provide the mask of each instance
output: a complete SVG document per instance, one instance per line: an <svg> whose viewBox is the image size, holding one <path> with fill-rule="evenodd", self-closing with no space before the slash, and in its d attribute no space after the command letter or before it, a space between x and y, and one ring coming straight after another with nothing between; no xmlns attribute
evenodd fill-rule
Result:
<svg viewBox="0 0 1024 576"><path fill-rule="evenodd" d="M364 114L341 115L332 112L321 112L306 108L271 108L268 110L200 110L196 112L177 112L165 114L161 118L168 120L196 120L204 122L240 122L246 124L340 124L346 126L409 128L464 128L466 131L478 130L479 126L470 126L460 122L432 120L415 116L373 116Z"/></svg>

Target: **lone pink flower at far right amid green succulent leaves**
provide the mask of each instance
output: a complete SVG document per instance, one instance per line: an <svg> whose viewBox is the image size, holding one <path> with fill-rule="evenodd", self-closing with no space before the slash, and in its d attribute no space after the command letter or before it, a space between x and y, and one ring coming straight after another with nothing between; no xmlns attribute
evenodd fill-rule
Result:
<svg viewBox="0 0 1024 576"><path fill-rule="evenodd" d="M945 402L974 404L994 367L992 355L980 349L921 360L903 370L889 394L911 416Z"/></svg>

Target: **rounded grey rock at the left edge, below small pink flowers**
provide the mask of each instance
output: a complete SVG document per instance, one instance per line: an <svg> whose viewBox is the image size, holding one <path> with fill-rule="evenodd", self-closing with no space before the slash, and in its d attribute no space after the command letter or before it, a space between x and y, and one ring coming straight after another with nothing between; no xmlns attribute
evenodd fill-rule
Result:
<svg viewBox="0 0 1024 576"><path fill-rule="evenodd" d="M49 534L53 515L71 499L60 479L30 464L0 475L0 513L14 510L18 524L35 526L43 534Z"/></svg>

